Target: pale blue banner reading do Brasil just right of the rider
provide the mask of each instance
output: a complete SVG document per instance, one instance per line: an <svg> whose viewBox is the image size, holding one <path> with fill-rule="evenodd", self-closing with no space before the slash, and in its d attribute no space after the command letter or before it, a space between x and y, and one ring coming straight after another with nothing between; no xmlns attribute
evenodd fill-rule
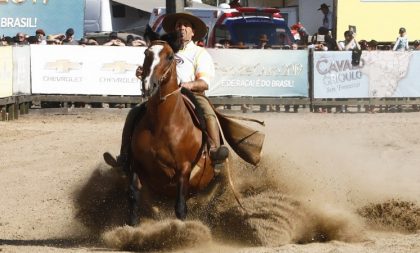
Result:
<svg viewBox="0 0 420 253"><path fill-rule="evenodd" d="M208 51L216 75L207 96L308 97L307 50Z"/></svg>

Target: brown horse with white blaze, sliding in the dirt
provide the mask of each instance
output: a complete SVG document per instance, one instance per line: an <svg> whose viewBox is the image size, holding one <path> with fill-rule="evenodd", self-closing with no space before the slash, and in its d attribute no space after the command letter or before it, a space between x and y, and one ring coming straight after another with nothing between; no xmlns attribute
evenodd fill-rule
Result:
<svg viewBox="0 0 420 253"><path fill-rule="evenodd" d="M131 171L141 187L175 199L176 217L185 219L187 198L203 190L215 175L205 152L206 138L184 102L174 52L166 42L154 41L145 50L138 71L148 102L131 138Z"/></svg>

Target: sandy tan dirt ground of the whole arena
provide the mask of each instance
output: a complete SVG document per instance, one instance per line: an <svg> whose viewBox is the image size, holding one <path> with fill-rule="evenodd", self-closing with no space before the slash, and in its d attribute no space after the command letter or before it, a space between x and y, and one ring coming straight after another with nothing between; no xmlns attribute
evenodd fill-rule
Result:
<svg viewBox="0 0 420 253"><path fill-rule="evenodd" d="M247 114L266 123L255 126L266 133L260 165L232 157L247 212L227 187L211 203L190 200L186 222L171 214L137 228L110 226L125 203L107 199L120 182L102 161L117 154L126 114L44 110L0 122L1 252L420 252L418 112ZM112 210L88 224L76 213L92 178L103 188L83 195Z"/></svg>

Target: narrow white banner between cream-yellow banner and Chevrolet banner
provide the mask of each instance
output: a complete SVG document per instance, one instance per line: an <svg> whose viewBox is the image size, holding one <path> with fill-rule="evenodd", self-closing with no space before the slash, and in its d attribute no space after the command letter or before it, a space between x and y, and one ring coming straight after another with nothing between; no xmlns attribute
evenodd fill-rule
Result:
<svg viewBox="0 0 420 253"><path fill-rule="evenodd" d="M13 47L13 95L31 94L30 47Z"/></svg>

